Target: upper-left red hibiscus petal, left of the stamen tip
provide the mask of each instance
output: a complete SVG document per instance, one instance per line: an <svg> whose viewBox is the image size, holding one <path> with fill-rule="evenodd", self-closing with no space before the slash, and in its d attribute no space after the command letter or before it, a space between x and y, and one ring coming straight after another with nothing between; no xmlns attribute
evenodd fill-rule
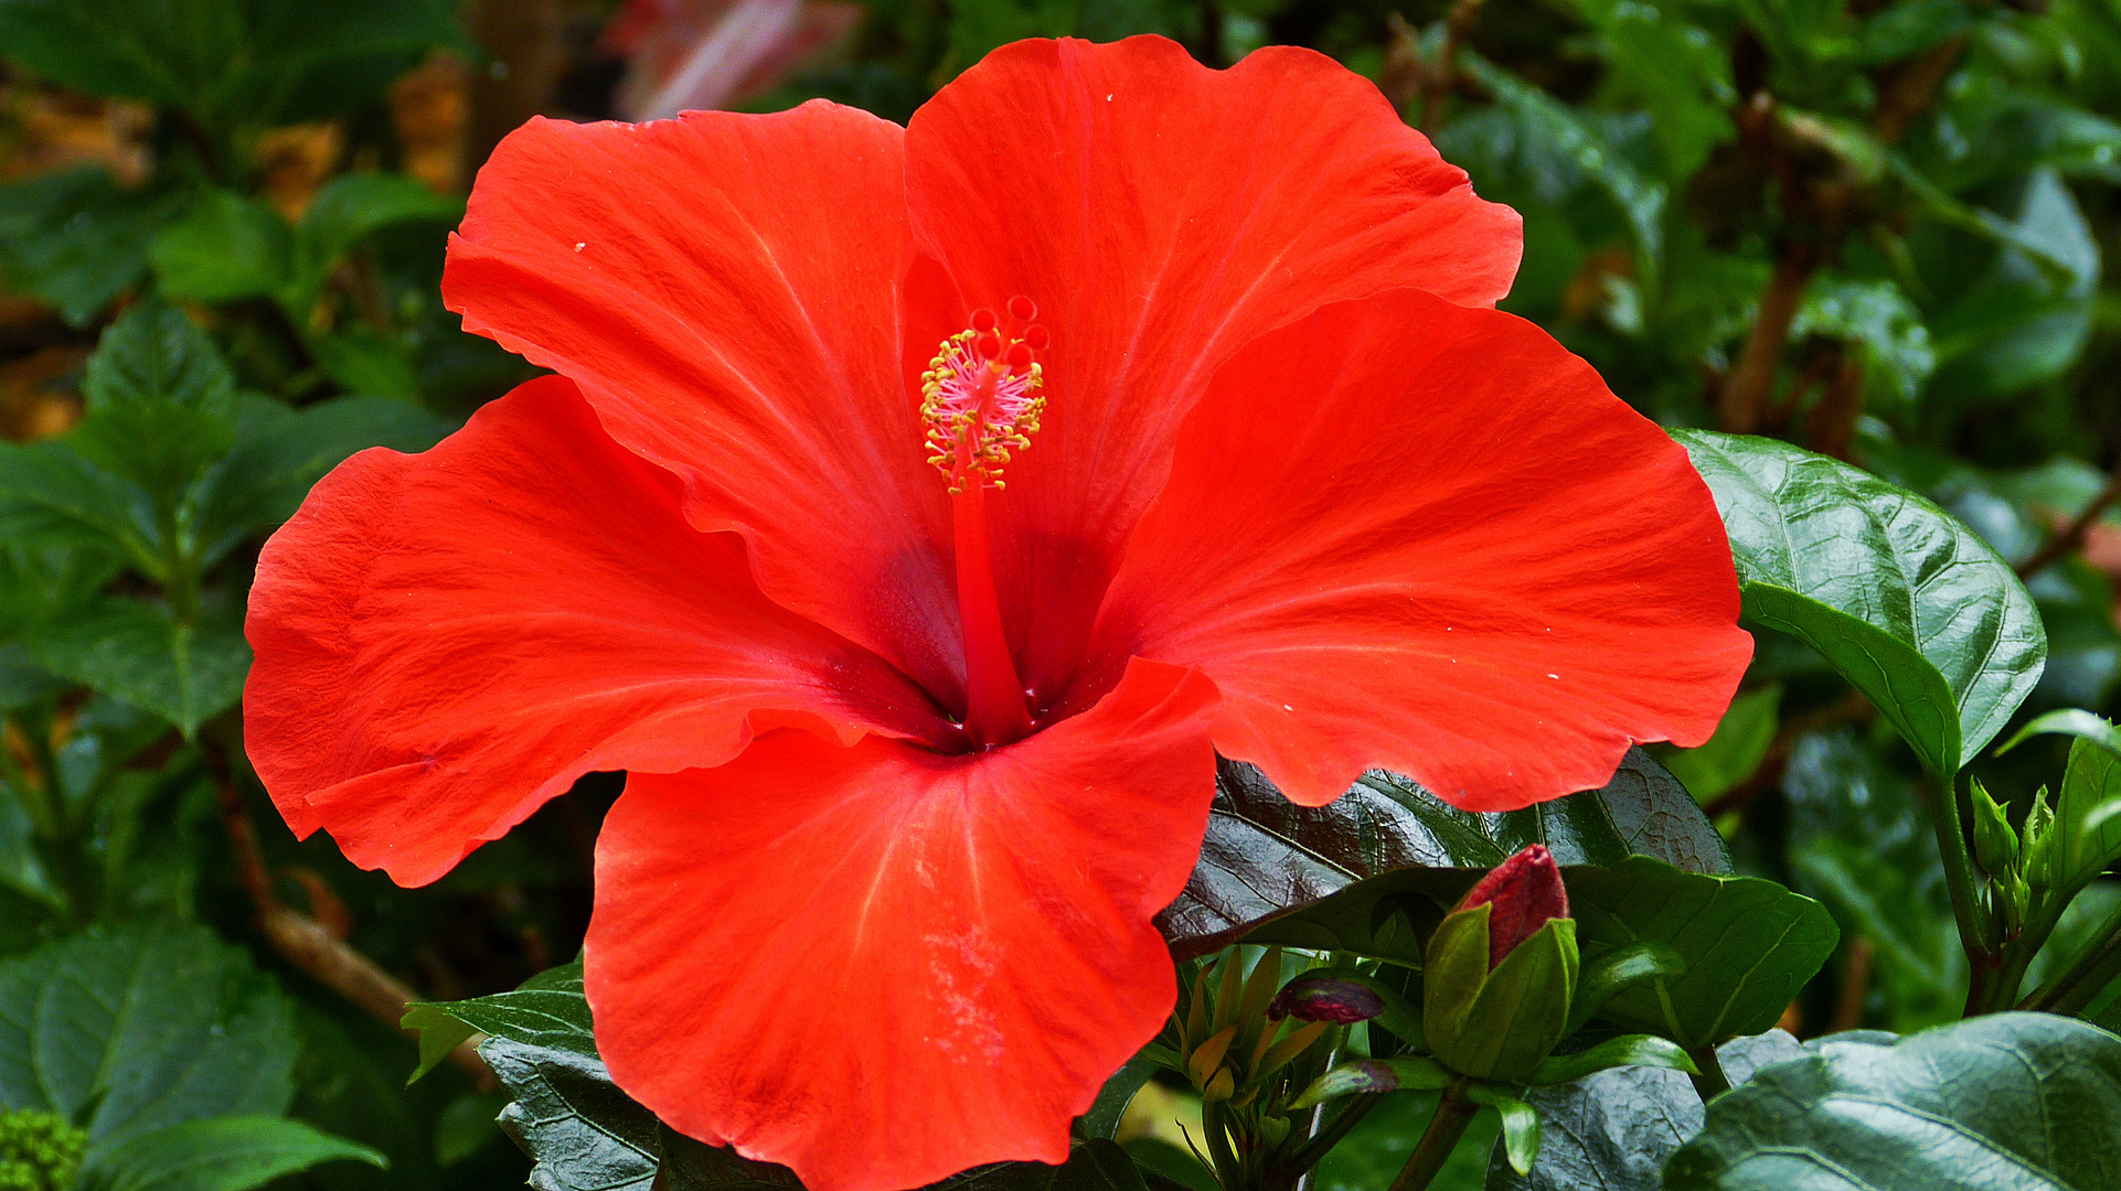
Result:
<svg viewBox="0 0 2121 1191"><path fill-rule="evenodd" d="M904 129L804 104L530 121L479 170L443 297L740 530L785 606L948 695L950 509L899 373Z"/></svg>

